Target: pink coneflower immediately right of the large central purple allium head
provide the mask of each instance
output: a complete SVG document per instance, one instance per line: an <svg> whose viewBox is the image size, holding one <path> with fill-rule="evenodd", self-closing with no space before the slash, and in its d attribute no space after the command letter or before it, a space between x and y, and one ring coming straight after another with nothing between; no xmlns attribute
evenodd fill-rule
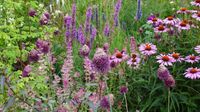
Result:
<svg viewBox="0 0 200 112"><path fill-rule="evenodd" d="M128 55L125 51L117 51L112 57L111 60L113 60L116 63L120 63L122 61L125 61L128 59Z"/></svg>

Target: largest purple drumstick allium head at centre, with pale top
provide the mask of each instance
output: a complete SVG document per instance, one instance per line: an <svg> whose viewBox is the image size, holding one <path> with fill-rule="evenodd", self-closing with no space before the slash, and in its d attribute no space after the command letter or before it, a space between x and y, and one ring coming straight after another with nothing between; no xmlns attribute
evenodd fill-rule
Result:
<svg viewBox="0 0 200 112"><path fill-rule="evenodd" d="M109 57L103 49L98 48L96 50L93 57L93 65L95 70L99 73L107 73L109 71Z"/></svg>

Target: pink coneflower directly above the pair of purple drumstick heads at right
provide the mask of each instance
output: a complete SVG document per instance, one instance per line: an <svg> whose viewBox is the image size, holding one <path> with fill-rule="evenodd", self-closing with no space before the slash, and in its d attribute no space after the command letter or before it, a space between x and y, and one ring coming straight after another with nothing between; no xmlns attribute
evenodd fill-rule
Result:
<svg viewBox="0 0 200 112"><path fill-rule="evenodd" d="M160 54L156 57L156 59L158 60L158 63L165 66L172 66L172 63L175 62L175 59L173 57L164 54Z"/></svg>

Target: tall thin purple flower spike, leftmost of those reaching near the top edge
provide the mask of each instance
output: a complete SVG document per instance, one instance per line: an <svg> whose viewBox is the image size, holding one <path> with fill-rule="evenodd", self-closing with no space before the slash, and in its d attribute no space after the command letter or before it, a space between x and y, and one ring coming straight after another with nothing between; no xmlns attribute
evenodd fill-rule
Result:
<svg viewBox="0 0 200 112"><path fill-rule="evenodd" d="M72 37L76 37L76 4L72 5Z"/></svg>

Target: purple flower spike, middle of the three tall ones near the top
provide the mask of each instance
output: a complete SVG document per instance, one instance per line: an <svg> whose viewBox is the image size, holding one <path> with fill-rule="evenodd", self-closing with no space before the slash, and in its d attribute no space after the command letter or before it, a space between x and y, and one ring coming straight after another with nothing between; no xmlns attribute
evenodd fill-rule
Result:
<svg viewBox="0 0 200 112"><path fill-rule="evenodd" d="M88 7L86 12L86 20L85 20L85 32L88 33L90 31L90 23L92 18L92 8Z"/></svg>

